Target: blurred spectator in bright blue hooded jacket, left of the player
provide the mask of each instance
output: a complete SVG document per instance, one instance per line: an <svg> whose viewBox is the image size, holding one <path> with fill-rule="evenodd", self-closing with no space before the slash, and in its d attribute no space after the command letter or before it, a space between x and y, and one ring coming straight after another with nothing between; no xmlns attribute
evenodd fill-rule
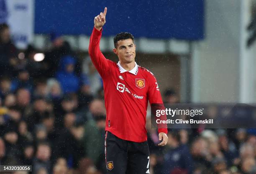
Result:
<svg viewBox="0 0 256 174"><path fill-rule="evenodd" d="M76 60L74 57L64 56L60 62L60 68L56 73L56 79L60 82L63 93L77 92L80 88L80 81L74 71Z"/></svg>

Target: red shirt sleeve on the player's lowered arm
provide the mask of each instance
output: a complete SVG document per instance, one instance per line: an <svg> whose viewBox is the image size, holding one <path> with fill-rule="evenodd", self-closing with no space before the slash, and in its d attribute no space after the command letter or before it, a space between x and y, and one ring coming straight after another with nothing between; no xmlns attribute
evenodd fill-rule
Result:
<svg viewBox="0 0 256 174"><path fill-rule="evenodd" d="M154 77L153 74L149 74L148 77L148 100L150 102L151 105L151 110L165 110L164 104L163 104L163 100L161 97L161 92L159 90L158 84L156 82L156 78ZM154 114L155 118L156 118L156 114ZM161 115L161 117L156 118L156 119L160 119L160 120L166 120L166 114ZM160 132L164 132L167 133L167 125L166 124L157 124L158 127L158 133Z"/></svg>

